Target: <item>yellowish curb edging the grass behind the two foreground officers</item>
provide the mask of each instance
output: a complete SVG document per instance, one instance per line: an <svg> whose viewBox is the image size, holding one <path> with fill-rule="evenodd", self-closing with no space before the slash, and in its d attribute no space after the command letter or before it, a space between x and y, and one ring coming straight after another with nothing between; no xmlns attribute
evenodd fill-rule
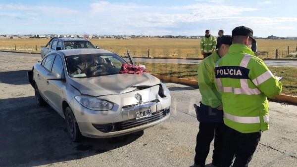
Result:
<svg viewBox="0 0 297 167"><path fill-rule="evenodd" d="M151 74L151 75L155 76L156 78L158 78L164 82L180 83L180 84L198 87L198 81L195 81L195 80L188 80L188 79L182 79L182 78L177 78L177 77L168 77L168 76L162 76L162 75L158 75L158 74ZM297 96L278 94L275 97L268 98L268 99L277 100L280 102L288 102L290 104L297 104Z"/></svg>

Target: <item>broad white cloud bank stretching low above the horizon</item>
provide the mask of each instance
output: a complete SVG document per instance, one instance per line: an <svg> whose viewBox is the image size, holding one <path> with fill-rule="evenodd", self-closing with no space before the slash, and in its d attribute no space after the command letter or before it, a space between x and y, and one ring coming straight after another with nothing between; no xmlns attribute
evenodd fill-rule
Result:
<svg viewBox="0 0 297 167"><path fill-rule="evenodd" d="M0 8L0 22L6 31L15 34L23 31L25 34L201 35L205 29L227 32L240 25L264 33L282 29L297 31L297 18L293 16L260 17L254 14L260 11L258 8L209 0L184 6L97 1L86 9L18 4L0 4Z"/></svg>

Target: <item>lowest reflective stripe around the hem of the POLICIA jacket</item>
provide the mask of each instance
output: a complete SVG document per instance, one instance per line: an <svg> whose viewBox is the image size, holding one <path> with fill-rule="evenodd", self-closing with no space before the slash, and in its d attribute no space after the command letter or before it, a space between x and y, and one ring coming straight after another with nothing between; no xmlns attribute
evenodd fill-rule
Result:
<svg viewBox="0 0 297 167"><path fill-rule="evenodd" d="M257 124L260 123L260 117L240 117L240 116L234 116L228 113L224 112L224 118L237 122L242 124ZM265 115L263 116L264 123L268 123L269 116Z"/></svg>

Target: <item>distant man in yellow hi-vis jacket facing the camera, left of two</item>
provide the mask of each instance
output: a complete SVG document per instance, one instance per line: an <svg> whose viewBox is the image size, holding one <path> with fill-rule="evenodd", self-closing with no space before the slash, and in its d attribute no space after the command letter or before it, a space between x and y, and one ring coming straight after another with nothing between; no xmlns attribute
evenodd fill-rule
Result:
<svg viewBox="0 0 297 167"><path fill-rule="evenodd" d="M216 39L212 36L209 30L205 30L205 36L200 41L200 49L203 58L211 55L212 52L215 50L216 46Z"/></svg>

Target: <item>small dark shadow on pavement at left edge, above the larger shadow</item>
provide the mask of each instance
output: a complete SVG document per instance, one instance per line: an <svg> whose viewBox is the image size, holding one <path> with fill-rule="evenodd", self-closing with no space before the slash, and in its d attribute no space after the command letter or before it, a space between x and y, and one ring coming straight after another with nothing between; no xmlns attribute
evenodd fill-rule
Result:
<svg viewBox="0 0 297 167"><path fill-rule="evenodd" d="M27 79L27 71L29 70L0 72L0 83L16 85L29 84Z"/></svg>

